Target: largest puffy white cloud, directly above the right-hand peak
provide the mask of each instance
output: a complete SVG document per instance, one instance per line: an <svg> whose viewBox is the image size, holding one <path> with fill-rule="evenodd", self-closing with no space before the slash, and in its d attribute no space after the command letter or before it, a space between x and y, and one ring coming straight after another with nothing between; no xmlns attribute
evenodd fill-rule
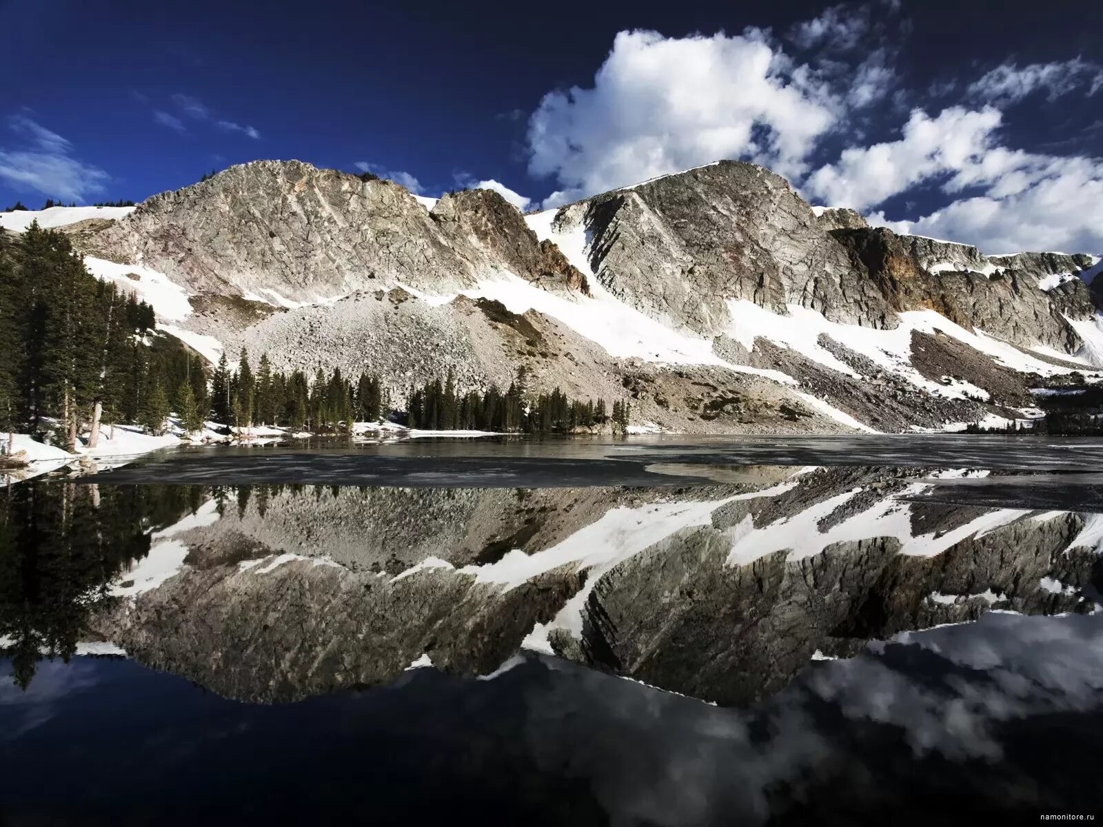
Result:
<svg viewBox="0 0 1103 827"><path fill-rule="evenodd" d="M720 158L794 176L839 107L758 30L620 32L592 87L548 93L533 112L529 172L560 185L546 206Z"/></svg>

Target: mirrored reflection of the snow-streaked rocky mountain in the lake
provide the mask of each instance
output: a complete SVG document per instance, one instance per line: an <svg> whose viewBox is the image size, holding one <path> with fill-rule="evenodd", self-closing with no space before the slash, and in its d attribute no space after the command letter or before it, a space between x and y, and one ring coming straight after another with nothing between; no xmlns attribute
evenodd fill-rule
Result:
<svg viewBox="0 0 1103 827"><path fill-rule="evenodd" d="M3 548L23 557L0 560L30 555L76 584L6 577L0 632L35 657L110 641L264 702L411 666L488 675L529 648L741 706L870 640L990 610L1094 611L1100 518L922 500L932 476L963 473L741 468L686 488L32 482L9 490L24 503L9 524L36 527L9 530ZM57 562L74 556L98 568ZM20 616L43 594L50 619Z"/></svg>

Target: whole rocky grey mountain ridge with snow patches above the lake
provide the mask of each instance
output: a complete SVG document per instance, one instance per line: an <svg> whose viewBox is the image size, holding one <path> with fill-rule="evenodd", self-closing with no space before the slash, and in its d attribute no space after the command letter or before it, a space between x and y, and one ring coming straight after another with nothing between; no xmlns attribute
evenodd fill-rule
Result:
<svg viewBox="0 0 1103 827"><path fill-rule="evenodd" d="M65 229L89 269L208 357L371 369L399 407L448 372L465 390L524 367L533 393L627 398L647 428L909 431L1030 416L1031 388L1103 366L1100 258L869 227L749 163L523 216L257 161L86 217Z"/></svg>

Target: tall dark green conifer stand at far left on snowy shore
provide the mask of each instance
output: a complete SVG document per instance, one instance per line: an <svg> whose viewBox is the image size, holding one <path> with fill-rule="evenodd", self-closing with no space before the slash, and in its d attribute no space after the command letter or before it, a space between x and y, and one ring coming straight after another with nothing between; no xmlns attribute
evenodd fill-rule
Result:
<svg viewBox="0 0 1103 827"><path fill-rule="evenodd" d="M205 397L206 378L153 327L153 309L89 273L64 234L0 235L0 432L54 431L69 450L118 422L161 432L175 389Z"/></svg>

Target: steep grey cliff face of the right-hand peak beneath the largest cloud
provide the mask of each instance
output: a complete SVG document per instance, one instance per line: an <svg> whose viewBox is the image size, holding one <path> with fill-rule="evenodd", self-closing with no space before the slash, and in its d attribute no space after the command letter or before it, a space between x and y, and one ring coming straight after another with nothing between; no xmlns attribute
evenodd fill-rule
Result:
<svg viewBox="0 0 1103 827"><path fill-rule="evenodd" d="M804 200L754 164L721 161L617 190L565 207L556 221L591 237L590 264L606 289L673 327L727 330L729 299L895 326L884 297Z"/></svg>

